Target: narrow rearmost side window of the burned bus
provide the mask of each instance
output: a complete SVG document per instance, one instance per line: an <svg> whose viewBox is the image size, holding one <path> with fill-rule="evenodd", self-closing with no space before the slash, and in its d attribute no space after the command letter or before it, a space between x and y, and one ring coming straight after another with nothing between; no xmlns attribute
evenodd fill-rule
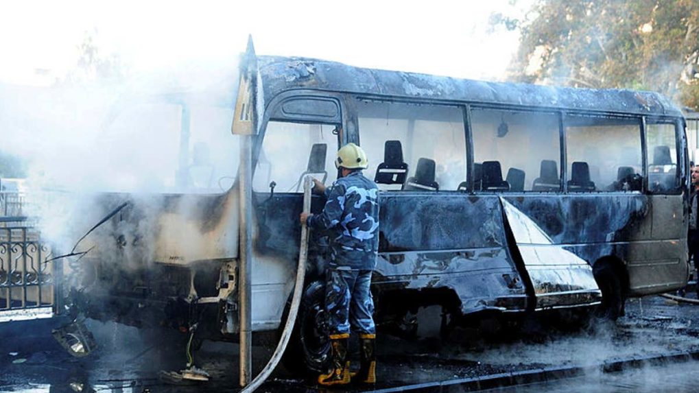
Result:
<svg viewBox="0 0 699 393"><path fill-rule="evenodd" d="M654 193L678 190L675 124L648 121L646 144L648 145L648 190Z"/></svg>

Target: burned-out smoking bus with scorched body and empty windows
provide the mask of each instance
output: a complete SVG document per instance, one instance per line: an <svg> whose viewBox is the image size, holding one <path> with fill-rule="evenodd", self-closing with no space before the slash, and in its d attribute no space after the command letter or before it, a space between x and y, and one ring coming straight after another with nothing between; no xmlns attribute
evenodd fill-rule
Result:
<svg viewBox="0 0 699 393"><path fill-rule="evenodd" d="M628 296L686 285L684 119L656 93L489 83L252 50L241 69L237 135L229 136L245 138L250 172L240 166L219 193L99 196L110 218L82 241L89 252L71 264L80 290L67 303L99 319L197 326L201 339L236 341L239 294L249 290L252 331L278 331L294 290L302 180L330 185L336 151L349 142L366 150L365 175L380 187L372 283L380 327L409 329L406 315L427 306L453 321L593 307L615 319ZM312 212L324 202L313 196ZM328 349L322 287L331 241L310 235L287 349L310 369ZM249 283L241 283L243 258Z"/></svg>

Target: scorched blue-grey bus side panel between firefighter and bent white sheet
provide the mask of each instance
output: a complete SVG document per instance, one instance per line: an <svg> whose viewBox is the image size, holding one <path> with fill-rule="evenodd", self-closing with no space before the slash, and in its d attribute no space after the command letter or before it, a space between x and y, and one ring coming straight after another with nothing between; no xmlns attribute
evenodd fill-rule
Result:
<svg viewBox="0 0 699 393"><path fill-rule="evenodd" d="M498 199L386 193L380 206L377 290L391 282L443 288L456 294L464 314L526 309Z"/></svg>

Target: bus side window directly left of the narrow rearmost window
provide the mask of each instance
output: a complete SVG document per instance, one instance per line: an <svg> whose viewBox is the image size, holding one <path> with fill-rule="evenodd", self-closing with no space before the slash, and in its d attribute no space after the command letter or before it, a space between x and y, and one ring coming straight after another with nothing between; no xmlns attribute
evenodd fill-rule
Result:
<svg viewBox="0 0 699 393"><path fill-rule="evenodd" d="M642 189L640 119L565 117L568 191Z"/></svg>

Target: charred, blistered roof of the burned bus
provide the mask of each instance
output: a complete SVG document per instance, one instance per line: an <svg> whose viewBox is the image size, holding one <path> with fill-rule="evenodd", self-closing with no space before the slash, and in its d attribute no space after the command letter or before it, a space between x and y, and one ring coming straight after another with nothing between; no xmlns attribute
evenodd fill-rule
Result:
<svg viewBox="0 0 699 393"><path fill-rule="evenodd" d="M302 57L259 56L257 62L265 102L287 90L311 89L418 100L682 116L679 108L656 92L485 82L421 73L363 69Z"/></svg>

